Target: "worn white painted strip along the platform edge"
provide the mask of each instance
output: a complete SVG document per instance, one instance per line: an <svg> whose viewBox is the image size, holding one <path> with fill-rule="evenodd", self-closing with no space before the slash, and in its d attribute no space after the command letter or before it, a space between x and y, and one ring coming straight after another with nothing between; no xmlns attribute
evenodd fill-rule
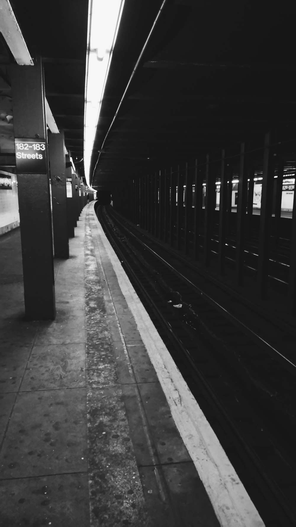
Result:
<svg viewBox="0 0 296 527"><path fill-rule="evenodd" d="M221 527L264 527L188 385L137 296L93 211L98 235L149 354L182 440L188 449ZM100 240L98 240L100 241ZM99 244L100 247L100 244Z"/></svg>

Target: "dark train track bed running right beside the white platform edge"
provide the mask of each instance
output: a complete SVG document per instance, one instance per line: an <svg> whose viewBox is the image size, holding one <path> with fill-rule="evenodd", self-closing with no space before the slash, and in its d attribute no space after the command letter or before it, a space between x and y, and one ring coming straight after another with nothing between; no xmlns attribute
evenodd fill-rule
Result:
<svg viewBox="0 0 296 527"><path fill-rule="evenodd" d="M283 331L261 319L271 344L237 300L226 299L229 309L205 294L184 260L168 261L110 208L97 216L265 525L296 525L296 366L277 344Z"/></svg>

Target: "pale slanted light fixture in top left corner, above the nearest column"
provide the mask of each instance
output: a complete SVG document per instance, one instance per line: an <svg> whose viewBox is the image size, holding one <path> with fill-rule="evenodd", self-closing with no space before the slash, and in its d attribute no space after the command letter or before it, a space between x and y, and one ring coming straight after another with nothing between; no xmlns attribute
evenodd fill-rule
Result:
<svg viewBox="0 0 296 527"><path fill-rule="evenodd" d="M8 0L0 1L0 31L17 64L21 66L33 66L32 57L29 54L24 37L14 16L12 6Z"/></svg>

